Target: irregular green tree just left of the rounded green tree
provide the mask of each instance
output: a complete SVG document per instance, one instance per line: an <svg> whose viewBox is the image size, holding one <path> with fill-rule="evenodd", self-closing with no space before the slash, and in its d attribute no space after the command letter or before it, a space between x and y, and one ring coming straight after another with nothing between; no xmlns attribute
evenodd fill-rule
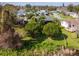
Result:
<svg viewBox="0 0 79 59"><path fill-rule="evenodd" d="M32 37L42 35L42 29L44 27L43 19L39 18L37 20L35 17L32 17L25 26L25 30L28 32L28 34L30 34Z"/></svg>

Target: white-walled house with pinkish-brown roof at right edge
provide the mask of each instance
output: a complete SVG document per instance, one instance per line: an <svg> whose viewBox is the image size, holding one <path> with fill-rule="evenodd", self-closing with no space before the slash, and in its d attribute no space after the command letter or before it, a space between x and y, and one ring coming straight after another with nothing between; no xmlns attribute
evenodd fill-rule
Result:
<svg viewBox="0 0 79 59"><path fill-rule="evenodd" d="M79 20L66 20L61 21L61 26L70 32L75 32L79 26Z"/></svg>

